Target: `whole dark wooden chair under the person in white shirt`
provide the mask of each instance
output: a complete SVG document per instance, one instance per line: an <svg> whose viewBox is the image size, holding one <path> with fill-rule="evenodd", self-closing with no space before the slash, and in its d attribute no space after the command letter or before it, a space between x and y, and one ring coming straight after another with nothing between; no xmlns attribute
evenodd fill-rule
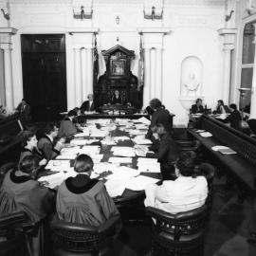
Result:
<svg viewBox="0 0 256 256"><path fill-rule="evenodd" d="M152 207L147 214L152 224L152 255L202 256L207 220L207 206L172 214Z"/></svg>

